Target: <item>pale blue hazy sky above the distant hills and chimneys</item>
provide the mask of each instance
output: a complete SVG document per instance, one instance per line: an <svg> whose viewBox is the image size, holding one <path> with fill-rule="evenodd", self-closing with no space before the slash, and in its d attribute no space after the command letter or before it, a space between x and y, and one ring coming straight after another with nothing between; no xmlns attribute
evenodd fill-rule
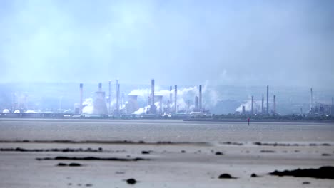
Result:
<svg viewBox="0 0 334 188"><path fill-rule="evenodd" d="M0 0L0 82L334 85L334 1Z"/></svg>

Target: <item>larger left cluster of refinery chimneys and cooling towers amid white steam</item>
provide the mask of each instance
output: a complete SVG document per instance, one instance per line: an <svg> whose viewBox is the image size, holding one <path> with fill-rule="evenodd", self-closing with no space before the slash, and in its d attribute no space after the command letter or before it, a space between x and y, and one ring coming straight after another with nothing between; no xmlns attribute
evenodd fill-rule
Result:
<svg viewBox="0 0 334 188"><path fill-rule="evenodd" d="M97 91L91 103L85 103L83 99L85 92L84 84L79 84L78 98L79 103L74 104L73 113L54 113L39 112L27 110L26 94L16 93L13 96L13 104L11 109L4 109L1 113L2 117L104 117L104 118L140 118L140 117L178 117L184 118L189 116L210 115L209 110L203 108L202 103L202 85L193 88L196 96L186 99L186 104L182 96L178 96L178 85L170 86L169 90L156 91L155 80L151 80L151 90L147 90L145 105L138 103L138 94L128 93L121 94L121 84L113 85L112 81L108 82L108 93L103 90L102 83L97 84ZM113 90L115 90L113 92Z"/></svg>

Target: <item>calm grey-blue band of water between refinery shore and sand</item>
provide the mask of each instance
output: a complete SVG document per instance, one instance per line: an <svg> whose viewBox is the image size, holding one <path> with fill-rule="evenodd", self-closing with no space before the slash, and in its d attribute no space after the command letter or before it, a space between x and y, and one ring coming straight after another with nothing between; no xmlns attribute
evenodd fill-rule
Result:
<svg viewBox="0 0 334 188"><path fill-rule="evenodd" d="M334 142L334 124L182 120L0 119L0 140Z"/></svg>

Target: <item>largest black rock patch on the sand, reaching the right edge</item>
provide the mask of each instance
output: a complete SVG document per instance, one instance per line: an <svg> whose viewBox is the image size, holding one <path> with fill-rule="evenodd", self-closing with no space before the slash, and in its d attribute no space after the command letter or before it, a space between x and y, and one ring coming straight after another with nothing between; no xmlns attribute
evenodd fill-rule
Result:
<svg viewBox="0 0 334 188"><path fill-rule="evenodd" d="M275 170L270 172L275 176L292 176L292 177L314 177L320 179L334 179L334 167L320 167L318 169L295 169L285 170L283 172Z"/></svg>

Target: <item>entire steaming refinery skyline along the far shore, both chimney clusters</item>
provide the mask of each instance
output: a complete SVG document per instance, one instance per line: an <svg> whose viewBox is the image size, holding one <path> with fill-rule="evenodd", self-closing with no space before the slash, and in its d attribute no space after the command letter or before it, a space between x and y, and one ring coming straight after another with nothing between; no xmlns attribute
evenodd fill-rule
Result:
<svg viewBox="0 0 334 188"><path fill-rule="evenodd" d="M78 87L79 86L79 87ZM108 81L108 90L97 83L95 92L91 98L84 98L85 84L80 83L76 92L71 93L76 101L72 108L64 110L62 97L59 100L58 110L31 110L28 106L29 97L27 93L14 93L11 98L11 107L2 108L0 117L59 117L59 118L179 118L189 117L211 117L212 105L209 101L212 95L203 99L203 85L190 88L178 88L178 85L168 86L168 89L156 87L155 80L151 80L151 88L131 90L122 93L121 84L116 80L114 83ZM269 85L266 93L248 93L248 100L235 110L233 117L256 117L280 115L277 110L276 94L270 95ZM207 92L207 89L204 89ZM86 91L86 93L89 93ZM215 95L218 95L214 93ZM255 94L255 95L253 95ZM315 102L313 88L310 88L310 100L300 105L296 115L307 115L316 117L321 115L332 115L334 113L334 101L331 103ZM283 100L278 100L280 107ZM71 102L70 102L71 103ZM238 102L240 104L240 102ZM285 105L286 103L284 103ZM295 108L299 108L298 106ZM305 109L305 110L303 110ZM217 114L217 113L216 113Z"/></svg>

